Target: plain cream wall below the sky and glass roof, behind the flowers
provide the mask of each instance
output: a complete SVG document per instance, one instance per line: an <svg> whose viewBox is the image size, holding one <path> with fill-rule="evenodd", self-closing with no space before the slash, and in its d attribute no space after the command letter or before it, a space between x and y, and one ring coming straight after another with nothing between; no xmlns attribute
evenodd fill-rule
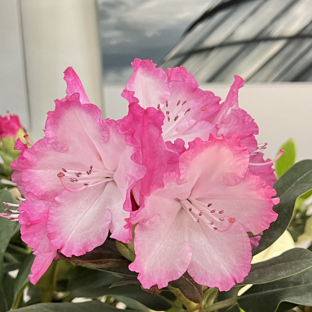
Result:
<svg viewBox="0 0 312 312"><path fill-rule="evenodd" d="M200 86L224 100L229 85ZM120 94L124 86L104 87L106 117L122 118L128 102ZM273 157L290 137L296 144L296 161L312 158L312 83L246 84L239 91L239 106L259 126L258 142L267 142L266 157Z"/></svg>

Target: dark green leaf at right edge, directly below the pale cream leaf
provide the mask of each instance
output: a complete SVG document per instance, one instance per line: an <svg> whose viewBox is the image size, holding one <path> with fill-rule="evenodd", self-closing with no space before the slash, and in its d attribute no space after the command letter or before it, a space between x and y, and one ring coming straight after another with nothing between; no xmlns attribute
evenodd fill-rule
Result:
<svg viewBox="0 0 312 312"><path fill-rule="evenodd" d="M294 248L267 261L252 264L250 273L239 285L268 283L311 267L312 252L303 248Z"/></svg>

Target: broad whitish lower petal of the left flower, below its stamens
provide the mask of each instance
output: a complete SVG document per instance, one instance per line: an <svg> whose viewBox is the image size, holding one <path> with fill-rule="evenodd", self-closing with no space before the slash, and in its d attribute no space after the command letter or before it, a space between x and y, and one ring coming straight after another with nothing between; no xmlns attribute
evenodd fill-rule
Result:
<svg viewBox="0 0 312 312"><path fill-rule="evenodd" d="M68 257L101 245L109 230L115 238L124 240L129 235L123 228L129 213L122 210L123 202L113 181L76 193L64 191L51 205L48 237Z"/></svg>

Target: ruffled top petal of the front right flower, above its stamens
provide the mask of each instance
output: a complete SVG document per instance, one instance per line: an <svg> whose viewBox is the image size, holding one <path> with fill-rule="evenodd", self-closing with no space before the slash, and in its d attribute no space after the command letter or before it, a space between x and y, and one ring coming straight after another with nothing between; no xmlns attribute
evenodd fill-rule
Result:
<svg viewBox="0 0 312 312"><path fill-rule="evenodd" d="M211 136L206 142L196 138L181 155L179 167L181 178L188 181L192 196L197 198L207 190L221 195L224 185L235 185L245 177L248 164L249 153L237 137Z"/></svg>

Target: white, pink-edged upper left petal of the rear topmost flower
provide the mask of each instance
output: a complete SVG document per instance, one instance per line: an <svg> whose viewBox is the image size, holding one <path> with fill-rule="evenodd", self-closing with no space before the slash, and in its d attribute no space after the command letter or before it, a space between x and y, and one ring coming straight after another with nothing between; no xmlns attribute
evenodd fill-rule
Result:
<svg viewBox="0 0 312 312"><path fill-rule="evenodd" d="M130 103L137 98L143 108L157 107L158 103L170 98L168 79L163 69L156 68L156 64L147 59L135 59L131 64L134 74L126 84L126 91L121 94L124 98L130 99ZM131 91L135 92L135 98L129 94Z"/></svg>

